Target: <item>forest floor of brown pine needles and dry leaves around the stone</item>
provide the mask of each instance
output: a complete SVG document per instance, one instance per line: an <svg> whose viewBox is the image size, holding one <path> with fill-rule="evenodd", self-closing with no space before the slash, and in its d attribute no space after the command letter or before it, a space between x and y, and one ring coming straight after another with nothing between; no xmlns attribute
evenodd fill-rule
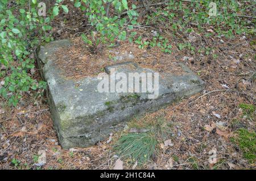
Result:
<svg viewBox="0 0 256 181"><path fill-rule="evenodd" d="M52 32L55 39L89 32L83 18L84 15L71 10L56 19ZM192 25L191 28L195 29ZM135 30L147 37L155 28L145 26ZM214 34L213 28L208 31ZM256 169L255 157L246 157L250 151L255 155L255 36L241 34L232 39L205 37L200 33L181 36L195 47L214 47L209 54L180 50L180 37L168 38L172 45L170 61L175 59L187 65L203 79L205 89L138 119L139 123L158 119L170 123L171 144L163 146L165 140L159 141L158 151L143 165L135 167L123 159L124 169ZM39 70L35 70L34 77L41 79ZM113 133L109 143L63 150L53 128L47 98L36 93L38 96L28 92L16 108L0 107L1 169L113 169L116 158L112 148L121 132ZM37 165L42 150L46 153L46 163ZM216 162L209 162L209 152L216 153Z"/></svg>

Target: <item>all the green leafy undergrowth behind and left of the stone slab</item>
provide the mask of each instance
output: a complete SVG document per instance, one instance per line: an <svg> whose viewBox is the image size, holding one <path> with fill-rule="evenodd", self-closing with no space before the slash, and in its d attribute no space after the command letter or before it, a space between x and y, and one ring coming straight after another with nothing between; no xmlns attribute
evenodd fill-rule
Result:
<svg viewBox="0 0 256 181"><path fill-rule="evenodd" d="M43 41L51 41L51 20L60 14L68 13L68 6L63 0L56 0L52 7L43 6L39 1L19 0L0 2L0 40L1 40L1 73L0 95L16 106L24 92L42 90L46 87L43 81L33 77L35 69L34 51ZM205 37L225 35L233 37L241 33L255 33L252 26L255 19L245 20L246 14L254 10L255 2L234 0L215 1L151 1L136 6L127 0L73 1L73 6L84 11L93 30L82 39L92 53L98 53L104 45L114 45L117 40L129 39L138 44L139 48L159 47L165 53L172 52L170 37L178 37L181 42L179 49L187 48L191 53L210 54L212 47L194 47L183 39L185 33L194 30L204 32ZM144 7L146 13L139 16L138 9ZM150 7L155 7L151 10ZM42 15L45 12L45 15ZM146 24L141 19L146 18ZM164 24L166 30L154 28L156 24ZM152 26L151 38L137 35L137 28ZM217 56L214 54L214 56Z"/></svg>

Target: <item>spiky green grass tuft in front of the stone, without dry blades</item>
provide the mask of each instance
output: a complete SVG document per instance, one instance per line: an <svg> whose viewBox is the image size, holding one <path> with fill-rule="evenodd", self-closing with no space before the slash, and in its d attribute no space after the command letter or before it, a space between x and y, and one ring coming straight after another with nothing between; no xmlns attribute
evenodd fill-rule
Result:
<svg viewBox="0 0 256 181"><path fill-rule="evenodd" d="M154 154L157 140L152 133L128 133L117 142L115 150L131 162L146 163Z"/></svg>

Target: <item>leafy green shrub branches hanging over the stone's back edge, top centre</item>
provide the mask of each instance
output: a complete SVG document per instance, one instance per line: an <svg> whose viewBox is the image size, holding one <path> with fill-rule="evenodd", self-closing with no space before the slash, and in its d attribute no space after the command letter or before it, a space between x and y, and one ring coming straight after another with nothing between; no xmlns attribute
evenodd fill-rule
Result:
<svg viewBox="0 0 256 181"><path fill-rule="evenodd" d="M127 0L96 0L96 1L76 1L75 7L79 7L82 11L85 11L85 15L88 17L90 24L95 27L94 31L97 31L98 36L94 32L90 34L90 37L82 35L86 44L91 45L92 39L94 41L94 47L98 47L102 43L113 43L118 38L119 40L126 39L125 27L130 29L133 26L131 24L137 24L136 19L138 16L135 5L131 5L129 9ZM114 12L110 15L109 8L113 7ZM122 13L127 11L127 18L122 18Z"/></svg>

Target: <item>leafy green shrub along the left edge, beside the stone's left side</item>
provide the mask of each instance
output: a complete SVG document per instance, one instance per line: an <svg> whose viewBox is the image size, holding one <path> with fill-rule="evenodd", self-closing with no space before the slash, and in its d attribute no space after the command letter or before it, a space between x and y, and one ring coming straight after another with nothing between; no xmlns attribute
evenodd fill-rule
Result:
<svg viewBox="0 0 256 181"><path fill-rule="evenodd" d="M32 54L40 42L52 40L47 32L53 16L40 16L38 12L36 0L0 2L0 95L9 100L9 105L16 106L23 92L46 86L32 78Z"/></svg>

